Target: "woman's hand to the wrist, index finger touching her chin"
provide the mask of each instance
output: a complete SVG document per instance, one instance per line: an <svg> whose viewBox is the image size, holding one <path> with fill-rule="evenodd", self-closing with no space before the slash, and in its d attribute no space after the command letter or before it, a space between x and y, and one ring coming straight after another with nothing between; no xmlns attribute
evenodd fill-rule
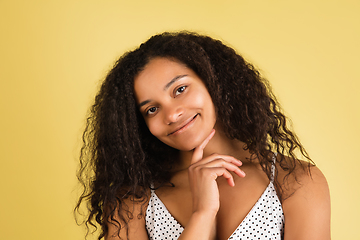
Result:
<svg viewBox="0 0 360 240"><path fill-rule="evenodd" d="M218 177L224 177L230 186L234 179L230 172L245 177L240 170L241 161L228 155L212 154L203 158L204 148L214 136L215 130L195 148L189 167L189 182L193 196L193 213L206 213L215 216L220 207Z"/></svg>

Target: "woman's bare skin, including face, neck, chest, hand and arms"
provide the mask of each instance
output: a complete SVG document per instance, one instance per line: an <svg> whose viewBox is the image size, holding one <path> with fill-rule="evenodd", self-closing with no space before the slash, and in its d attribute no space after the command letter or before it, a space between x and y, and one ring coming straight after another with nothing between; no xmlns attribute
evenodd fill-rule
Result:
<svg viewBox="0 0 360 240"><path fill-rule="evenodd" d="M202 80L185 65L155 58L136 77L135 96L151 133L181 151L171 182L156 194L184 226L180 240L230 237L269 184L259 164L249 162L244 143L228 139L216 123L215 108ZM295 170L297 180L279 167L287 186L283 201L285 239L330 239L330 197L320 170L312 177ZM180 197L181 196L181 197ZM126 202L135 216L147 203ZM129 239L148 239L145 218L128 222ZM109 225L106 239L117 229ZM126 239L126 231L120 236Z"/></svg>

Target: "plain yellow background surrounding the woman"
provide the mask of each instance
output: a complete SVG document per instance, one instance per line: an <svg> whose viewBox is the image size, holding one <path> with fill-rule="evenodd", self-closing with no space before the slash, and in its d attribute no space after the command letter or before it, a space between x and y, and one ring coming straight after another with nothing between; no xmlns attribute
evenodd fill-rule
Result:
<svg viewBox="0 0 360 240"><path fill-rule="evenodd" d="M357 0L0 0L0 238L83 239L85 114L124 51L164 30L223 39L271 81L328 179L333 239L360 239Z"/></svg>

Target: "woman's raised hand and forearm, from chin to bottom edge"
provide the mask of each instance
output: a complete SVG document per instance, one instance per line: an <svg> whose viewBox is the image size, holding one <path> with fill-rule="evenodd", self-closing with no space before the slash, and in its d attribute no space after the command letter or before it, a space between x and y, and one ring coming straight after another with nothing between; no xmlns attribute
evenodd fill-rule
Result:
<svg viewBox="0 0 360 240"><path fill-rule="evenodd" d="M220 207L218 177L224 177L234 186L231 172L239 177L245 173L239 169L242 163L228 155L212 154L203 158L204 148L214 136L215 130L195 148L189 167L189 183L193 199L193 213L179 240L208 240L216 236L216 214Z"/></svg>

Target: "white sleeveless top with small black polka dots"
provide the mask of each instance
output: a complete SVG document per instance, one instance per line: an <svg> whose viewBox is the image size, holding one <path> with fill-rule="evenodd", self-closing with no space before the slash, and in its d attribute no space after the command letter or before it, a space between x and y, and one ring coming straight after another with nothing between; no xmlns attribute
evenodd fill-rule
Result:
<svg viewBox="0 0 360 240"><path fill-rule="evenodd" d="M281 240L283 229L284 213L271 181L229 240ZM154 190L146 210L146 230L151 240L178 239L184 230Z"/></svg>

